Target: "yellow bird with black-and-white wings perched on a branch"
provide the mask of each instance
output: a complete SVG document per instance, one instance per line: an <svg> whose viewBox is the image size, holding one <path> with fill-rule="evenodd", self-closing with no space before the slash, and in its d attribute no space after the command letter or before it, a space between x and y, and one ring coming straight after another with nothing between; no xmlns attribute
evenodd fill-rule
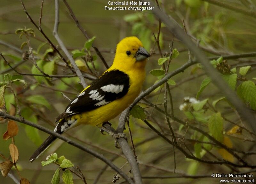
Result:
<svg viewBox="0 0 256 184"><path fill-rule="evenodd" d="M54 132L62 134L80 124L101 127L117 117L140 94L145 80L145 66L149 53L141 41L126 37L116 46L111 67L91 82L68 104L56 118ZM50 135L32 154L33 162L56 139Z"/></svg>

